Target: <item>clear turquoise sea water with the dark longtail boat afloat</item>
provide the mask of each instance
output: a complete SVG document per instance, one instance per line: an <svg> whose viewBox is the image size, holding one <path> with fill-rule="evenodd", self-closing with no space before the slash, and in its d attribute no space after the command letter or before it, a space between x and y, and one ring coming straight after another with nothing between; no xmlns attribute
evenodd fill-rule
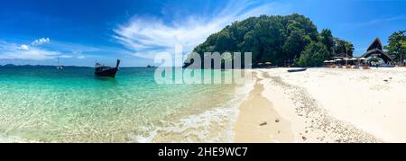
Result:
<svg viewBox="0 0 406 161"><path fill-rule="evenodd" d="M235 85L158 85L154 68L0 67L0 141L226 142Z"/></svg>

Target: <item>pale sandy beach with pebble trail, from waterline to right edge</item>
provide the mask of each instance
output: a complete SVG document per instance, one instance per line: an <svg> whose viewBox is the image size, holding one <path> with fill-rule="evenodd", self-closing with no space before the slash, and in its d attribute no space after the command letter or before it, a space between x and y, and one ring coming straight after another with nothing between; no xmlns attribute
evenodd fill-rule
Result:
<svg viewBox="0 0 406 161"><path fill-rule="evenodd" d="M405 67L287 70L254 70L235 142L406 142Z"/></svg>

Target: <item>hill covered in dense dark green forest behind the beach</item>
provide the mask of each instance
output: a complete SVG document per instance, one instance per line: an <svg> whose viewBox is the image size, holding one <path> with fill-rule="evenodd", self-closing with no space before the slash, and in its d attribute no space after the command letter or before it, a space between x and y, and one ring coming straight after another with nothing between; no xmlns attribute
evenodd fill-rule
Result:
<svg viewBox="0 0 406 161"><path fill-rule="evenodd" d="M309 18L291 15L262 15L242 22L233 22L225 29L212 34L193 51L252 52L253 66L272 62L279 67L288 64L318 66L334 56L351 56L354 47L345 40L334 38L330 30L318 33ZM185 64L188 67L188 64Z"/></svg>

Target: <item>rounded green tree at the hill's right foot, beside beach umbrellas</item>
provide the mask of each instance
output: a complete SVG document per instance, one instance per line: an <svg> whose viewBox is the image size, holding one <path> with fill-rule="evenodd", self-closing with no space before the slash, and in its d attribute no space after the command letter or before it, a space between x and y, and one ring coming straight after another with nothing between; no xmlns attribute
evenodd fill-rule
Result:
<svg viewBox="0 0 406 161"><path fill-rule="evenodd" d="M332 55L328 48L321 42L311 42L300 54L298 65L301 67L318 67L323 61L330 59Z"/></svg>

